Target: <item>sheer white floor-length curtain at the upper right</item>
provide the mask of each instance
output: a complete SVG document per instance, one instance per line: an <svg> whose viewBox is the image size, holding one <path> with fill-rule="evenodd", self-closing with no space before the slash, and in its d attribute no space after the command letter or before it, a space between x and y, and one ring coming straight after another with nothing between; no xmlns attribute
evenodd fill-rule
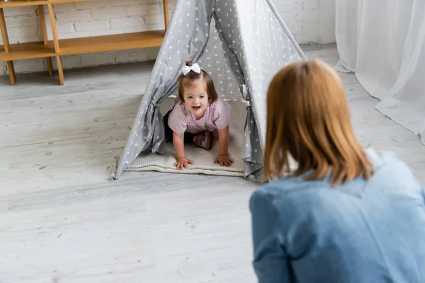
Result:
<svg viewBox="0 0 425 283"><path fill-rule="evenodd" d="M425 144L425 0L336 1L335 69L352 71L376 109Z"/></svg>

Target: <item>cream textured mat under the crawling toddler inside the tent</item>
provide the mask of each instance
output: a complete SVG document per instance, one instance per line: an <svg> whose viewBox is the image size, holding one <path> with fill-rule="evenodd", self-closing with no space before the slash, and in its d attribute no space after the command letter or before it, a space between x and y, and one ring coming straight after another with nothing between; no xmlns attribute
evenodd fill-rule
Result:
<svg viewBox="0 0 425 283"><path fill-rule="evenodd" d="M173 103L172 100L167 100L168 101L162 103L162 112L164 112L164 114L171 109ZM173 166L174 162L176 162L173 144L172 142L166 142L164 155L151 153L140 154L136 160L128 166L127 171L159 171L167 173L243 176L244 164L241 156L246 106L239 100L229 100L227 102L232 106L229 139L229 156L234 161L232 166L225 167L214 163L214 159L218 155L218 139L213 139L210 151L200 149L193 144L185 144L186 157L193 161L193 164L189 164L187 169L181 171L176 170Z"/></svg>

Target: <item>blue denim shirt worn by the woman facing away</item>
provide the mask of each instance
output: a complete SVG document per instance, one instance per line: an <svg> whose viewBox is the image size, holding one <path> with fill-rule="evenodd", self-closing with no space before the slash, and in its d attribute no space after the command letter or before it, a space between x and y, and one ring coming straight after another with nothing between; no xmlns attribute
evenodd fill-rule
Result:
<svg viewBox="0 0 425 283"><path fill-rule="evenodd" d="M425 282L424 187L395 155L366 152L370 180L281 178L253 193L260 283Z"/></svg>

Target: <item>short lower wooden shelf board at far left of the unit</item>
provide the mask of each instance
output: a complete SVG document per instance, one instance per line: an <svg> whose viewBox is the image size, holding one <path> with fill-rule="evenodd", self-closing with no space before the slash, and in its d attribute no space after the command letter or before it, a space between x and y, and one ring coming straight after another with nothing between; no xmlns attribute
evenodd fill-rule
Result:
<svg viewBox="0 0 425 283"><path fill-rule="evenodd" d="M55 46L51 41L48 45L44 45L43 42L27 42L10 46L11 52L0 54L0 61L53 57L56 55ZM4 45L0 46L0 52L5 52Z"/></svg>

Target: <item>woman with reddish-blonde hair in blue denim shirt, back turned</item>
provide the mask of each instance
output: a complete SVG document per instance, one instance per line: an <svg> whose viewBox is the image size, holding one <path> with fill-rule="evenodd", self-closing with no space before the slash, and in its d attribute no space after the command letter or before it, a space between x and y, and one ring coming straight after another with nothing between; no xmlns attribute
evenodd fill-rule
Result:
<svg viewBox="0 0 425 283"><path fill-rule="evenodd" d="M273 181L250 200L259 283L425 282L424 187L394 154L361 146L334 69L278 71L266 131Z"/></svg>

